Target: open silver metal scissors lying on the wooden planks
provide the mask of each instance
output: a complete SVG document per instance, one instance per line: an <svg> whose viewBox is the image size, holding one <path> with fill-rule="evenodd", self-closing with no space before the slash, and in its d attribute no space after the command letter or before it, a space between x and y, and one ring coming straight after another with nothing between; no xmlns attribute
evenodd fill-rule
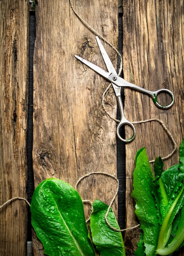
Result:
<svg viewBox="0 0 184 256"><path fill-rule="evenodd" d="M100 74L101 76L103 76L105 79L107 79L108 81L110 81L112 83L112 86L114 88L114 92L115 92L116 97L117 97L117 102L118 102L118 105L119 105L120 115L121 115L120 122L117 125L117 129L116 129L117 137L121 141L130 142L130 141L132 141L135 138L136 131L135 131L134 124L132 124L130 121L128 121L126 119L125 115L124 115L123 102L122 102L122 99L121 99L121 87L132 88L132 89L137 90L139 92L143 92L143 93L148 94L153 99L153 102L155 103L155 105L157 107L164 108L164 109L168 109L168 108L171 108L171 106L173 106L173 104L174 104L174 94L173 94L173 92L171 92L168 89L159 89L157 91L146 90L146 89L144 89L142 87L139 87L138 85L135 85L133 83L129 83L128 81L126 81L123 78L119 77L117 72L116 72L116 70L115 70L115 68L114 68L114 66L112 65L112 62L110 61L110 58L109 58L107 52L105 51L101 41L99 40L98 36L96 36L96 41L97 41L97 43L99 45L99 49L100 49L101 55L103 57L103 60L105 62L105 65L107 66L108 72L103 70L101 67L98 67L98 66L96 66L95 64L93 64L93 63L91 63L89 61L86 61L84 58L81 58L81 57L79 57L77 55L75 55L75 57L79 61L83 62L85 65L90 67L92 70L94 70L96 73ZM171 96L171 103L169 105L162 106L157 101L157 96L161 92L165 92L165 93L167 93L167 94L169 94ZM120 128L121 128L121 126L124 126L124 125L130 126L132 128L132 130L133 130L133 135L132 135L132 137L130 139L123 139L121 137L121 135L120 135Z"/></svg>

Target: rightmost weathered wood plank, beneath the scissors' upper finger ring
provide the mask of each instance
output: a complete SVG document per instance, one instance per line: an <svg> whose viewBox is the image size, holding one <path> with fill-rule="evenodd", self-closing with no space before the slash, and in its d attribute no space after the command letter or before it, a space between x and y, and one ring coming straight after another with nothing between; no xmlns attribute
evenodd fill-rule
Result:
<svg viewBox="0 0 184 256"><path fill-rule="evenodd" d="M149 90L167 88L175 95L175 105L169 110L162 110L147 95L125 90L128 120L161 119L177 141L177 152L164 161L165 169L178 163L178 147L184 137L183 4L180 0L123 0L124 78ZM162 100L166 102L166 98L162 97L160 102ZM137 150L146 146L150 160L159 155L165 157L173 150L171 139L158 122L137 124L136 130L135 140L126 145L127 227L137 224L131 198ZM138 235L138 229L126 232L125 245L130 255L136 249ZM175 255L184 255L182 252Z"/></svg>

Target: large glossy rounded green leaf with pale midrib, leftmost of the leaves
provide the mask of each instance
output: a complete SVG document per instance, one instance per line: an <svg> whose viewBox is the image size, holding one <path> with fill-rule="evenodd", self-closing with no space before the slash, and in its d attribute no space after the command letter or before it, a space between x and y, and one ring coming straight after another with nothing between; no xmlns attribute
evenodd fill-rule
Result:
<svg viewBox="0 0 184 256"><path fill-rule="evenodd" d="M41 182L31 201L31 222L48 256L94 256L79 193L58 179Z"/></svg>

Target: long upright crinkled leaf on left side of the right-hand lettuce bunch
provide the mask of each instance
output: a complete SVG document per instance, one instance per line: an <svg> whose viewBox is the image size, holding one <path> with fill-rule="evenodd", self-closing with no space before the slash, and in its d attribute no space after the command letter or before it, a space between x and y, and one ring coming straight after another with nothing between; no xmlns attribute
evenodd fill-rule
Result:
<svg viewBox="0 0 184 256"><path fill-rule="evenodd" d="M155 255L159 223L157 207L153 190L155 189L153 171L150 167L145 148L141 148L136 155L136 166L133 175L132 197L135 199L135 214L141 223L144 233L144 246L146 256Z"/></svg>

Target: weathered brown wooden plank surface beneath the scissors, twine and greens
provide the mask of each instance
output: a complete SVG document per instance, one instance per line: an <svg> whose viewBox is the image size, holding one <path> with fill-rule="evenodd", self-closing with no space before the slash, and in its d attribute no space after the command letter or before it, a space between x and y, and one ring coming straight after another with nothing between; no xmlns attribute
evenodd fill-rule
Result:
<svg viewBox="0 0 184 256"><path fill-rule="evenodd" d="M164 161L165 168L178 163L178 147L184 137L183 2L78 0L72 4L79 16L116 48L120 38L119 11L124 78L146 89L168 88L174 92L175 105L161 110L147 95L125 89L125 114L130 121L161 119L178 145L173 156ZM0 8L0 204L3 204L15 196L26 198L26 182L30 182L26 155L29 3L0 0ZM108 44L104 46L116 65L117 54ZM116 124L101 103L108 83L79 63L74 54L105 68L95 34L74 14L70 2L38 1L32 154L35 187L47 177L57 177L75 186L82 175L94 171L117 175ZM105 97L105 108L116 117L112 88ZM126 227L137 224L131 198L137 150L146 146L150 160L173 150L171 139L158 122L136 124L136 130L135 140L126 145L126 170L123 170L126 171ZM78 190L83 199L98 198L109 204L116 185L110 177L91 175L79 184ZM117 201L113 209L118 215ZM88 215L88 208L85 211ZM26 255L26 220L27 206L23 201L0 209L0 255ZM138 235L139 229L124 234L127 255L133 255ZM35 256L44 255L34 232L33 248ZM183 250L176 255L184 255Z"/></svg>

